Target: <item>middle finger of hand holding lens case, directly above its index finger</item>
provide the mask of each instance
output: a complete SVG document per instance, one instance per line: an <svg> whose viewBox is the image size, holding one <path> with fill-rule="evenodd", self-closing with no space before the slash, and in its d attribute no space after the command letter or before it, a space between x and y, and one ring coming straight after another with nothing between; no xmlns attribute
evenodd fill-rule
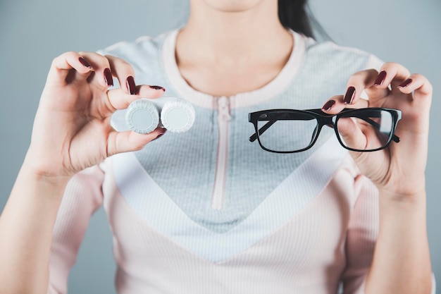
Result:
<svg viewBox="0 0 441 294"><path fill-rule="evenodd" d="M123 59L118 59L115 56L106 55L106 59L108 59L110 63L112 74L118 78L121 89L128 94L137 94L135 71L133 71L132 66Z"/></svg>

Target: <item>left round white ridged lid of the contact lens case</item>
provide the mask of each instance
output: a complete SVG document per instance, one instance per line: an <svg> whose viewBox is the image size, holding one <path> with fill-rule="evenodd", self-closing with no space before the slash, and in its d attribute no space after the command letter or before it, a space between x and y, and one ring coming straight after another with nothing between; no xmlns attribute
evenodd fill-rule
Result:
<svg viewBox="0 0 441 294"><path fill-rule="evenodd" d="M158 127L159 111L151 99L137 99L128 106L125 121L134 132L148 134Z"/></svg>

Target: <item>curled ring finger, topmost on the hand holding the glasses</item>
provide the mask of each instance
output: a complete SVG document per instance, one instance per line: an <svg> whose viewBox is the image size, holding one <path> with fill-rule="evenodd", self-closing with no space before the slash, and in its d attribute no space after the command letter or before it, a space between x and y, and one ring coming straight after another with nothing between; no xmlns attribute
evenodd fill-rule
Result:
<svg viewBox="0 0 441 294"><path fill-rule="evenodd" d="M409 75L409 70L401 64L387 62L381 67L380 73L378 73L378 76L375 78L373 85L377 89L386 89L390 85L392 94L401 94L397 90L397 87L404 82Z"/></svg>

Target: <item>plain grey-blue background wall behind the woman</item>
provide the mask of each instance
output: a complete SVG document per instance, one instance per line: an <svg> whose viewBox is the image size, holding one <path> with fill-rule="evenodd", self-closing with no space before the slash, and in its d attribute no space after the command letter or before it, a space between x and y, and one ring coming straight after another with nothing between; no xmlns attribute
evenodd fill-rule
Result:
<svg viewBox="0 0 441 294"><path fill-rule="evenodd" d="M310 4L337 44L402 63L411 72L426 75L434 86L426 172L428 233L433 271L441 285L441 197L437 187L441 180L441 1L311 0ZM96 51L142 35L159 35L185 23L187 13L185 0L0 0L1 210L27 150L51 60L64 51ZM111 233L100 209L71 271L70 293L115 293L111 250Z"/></svg>

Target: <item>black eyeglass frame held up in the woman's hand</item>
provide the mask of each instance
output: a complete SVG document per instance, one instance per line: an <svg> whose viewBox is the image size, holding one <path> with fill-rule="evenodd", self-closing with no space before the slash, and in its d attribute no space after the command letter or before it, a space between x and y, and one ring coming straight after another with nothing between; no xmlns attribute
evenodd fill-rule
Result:
<svg viewBox="0 0 441 294"><path fill-rule="evenodd" d="M372 113L373 111L387 111L392 116L392 130L390 132L389 138L387 139L387 142L385 143L385 145L383 145L382 147L376 148L376 149L367 149L367 150L353 149L351 147L345 146L340 138L340 134L338 133L337 121L340 118L356 117L356 118L361 118L362 120L366 121L367 123L370 123L371 125L373 125L375 128L379 129L380 125L378 125L378 123L376 123L375 121L372 121L368 117L360 117L361 114L363 114L363 113L366 113L366 112ZM257 123L258 123L259 118L261 117L262 114L267 114L270 112L287 112L287 113L296 113L299 115L306 114L309 117L313 116L313 118L316 118L316 121L317 121L316 130L314 130L314 133L313 133L314 137L311 140L311 142L309 143L309 145L303 149L293 150L293 151L275 151L275 150L271 150L271 149L264 147L261 143L259 135L263 134L266 130L268 130L268 128L270 128L271 125L273 125L273 123L275 123L276 120L268 121L268 123L263 125L260 129L259 129L259 126L257 125ZM359 115L355 115L357 113ZM370 117L372 117L372 116L370 116ZM326 114L321 109L306 109L306 110L267 109L267 110L251 112L248 114L248 121L250 123L253 123L254 129L256 131L256 133L254 133L253 135L251 135L251 137L249 137L249 141L254 142L255 140L258 140L260 147L268 152L274 152L274 153L304 152L304 151L310 149L311 147L313 147L313 145L316 143L316 141L318 139L318 135L320 135L321 129L323 128L323 125L332 125L333 129L335 130L335 135L337 135L338 142L340 142L340 145L342 145L342 147L344 147L345 149L348 149L348 150L351 150L354 152L374 152L374 151L378 151L381 149L385 149L388 145L390 145L390 142L392 142L392 141L397 142L397 143L399 142L400 139L399 139L399 137L397 137L397 135L395 135L395 129L397 128L397 124L401 118L402 118L402 112L400 110L387 109L387 108L383 108L383 107L371 107L371 108L362 108L362 109L343 109L338 114Z"/></svg>

